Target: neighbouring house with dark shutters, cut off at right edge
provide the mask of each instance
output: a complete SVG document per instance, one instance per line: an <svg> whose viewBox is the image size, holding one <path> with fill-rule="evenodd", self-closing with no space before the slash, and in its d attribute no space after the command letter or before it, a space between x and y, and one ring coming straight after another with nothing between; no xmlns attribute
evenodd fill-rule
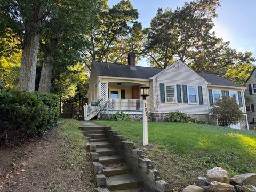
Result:
<svg viewBox="0 0 256 192"><path fill-rule="evenodd" d="M255 124L256 121L256 112L254 105L256 107L256 68L254 68L245 82L248 89L244 92L245 98L247 100L246 102L246 111L247 111L247 117L248 122L250 124Z"/></svg>

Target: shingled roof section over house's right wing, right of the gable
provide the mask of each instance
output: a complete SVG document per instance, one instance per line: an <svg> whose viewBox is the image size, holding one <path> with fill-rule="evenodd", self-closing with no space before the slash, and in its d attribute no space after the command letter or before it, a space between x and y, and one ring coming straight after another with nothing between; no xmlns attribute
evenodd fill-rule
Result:
<svg viewBox="0 0 256 192"><path fill-rule="evenodd" d="M217 86L229 86L229 87L243 87L242 85L238 85L236 83L230 82L228 79L219 77L213 73L197 73L201 77L203 77L207 82L211 83L211 85Z"/></svg>

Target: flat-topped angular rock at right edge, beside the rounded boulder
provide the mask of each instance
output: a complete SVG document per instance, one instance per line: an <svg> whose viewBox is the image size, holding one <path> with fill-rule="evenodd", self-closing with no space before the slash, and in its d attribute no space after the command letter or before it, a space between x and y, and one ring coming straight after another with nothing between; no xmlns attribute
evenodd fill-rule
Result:
<svg viewBox="0 0 256 192"><path fill-rule="evenodd" d="M238 185L253 185L256 186L256 173L247 173L236 175L230 179L230 183L238 184Z"/></svg>

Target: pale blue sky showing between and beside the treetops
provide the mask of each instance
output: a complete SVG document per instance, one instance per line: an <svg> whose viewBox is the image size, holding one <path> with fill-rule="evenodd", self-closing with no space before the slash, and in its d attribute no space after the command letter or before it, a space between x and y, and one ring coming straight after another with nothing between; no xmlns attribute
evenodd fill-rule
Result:
<svg viewBox="0 0 256 192"><path fill-rule="evenodd" d="M183 6L182 0L130 0L138 9L139 19L143 27L149 27L151 19L156 15L158 7L165 9ZM109 6L119 0L109 0ZM222 0L217 9L218 18L214 19L213 31L217 37L230 41L230 46L237 51L251 51L256 57L256 0ZM148 66L146 59L139 61L140 66Z"/></svg>

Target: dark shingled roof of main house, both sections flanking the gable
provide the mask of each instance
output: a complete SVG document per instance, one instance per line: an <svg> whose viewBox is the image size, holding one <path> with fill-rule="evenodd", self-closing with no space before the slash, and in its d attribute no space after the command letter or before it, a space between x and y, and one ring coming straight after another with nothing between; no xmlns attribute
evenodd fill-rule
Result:
<svg viewBox="0 0 256 192"><path fill-rule="evenodd" d="M136 70L131 70L129 65L123 65L118 63L108 63L93 61L92 65L97 70L99 76L107 77L124 77L124 78L140 78L148 79L158 74L163 69L152 67L136 66ZM197 73L204 78L211 85L228 86L228 87L243 87L236 83L230 82L228 79L219 77L212 73Z"/></svg>

